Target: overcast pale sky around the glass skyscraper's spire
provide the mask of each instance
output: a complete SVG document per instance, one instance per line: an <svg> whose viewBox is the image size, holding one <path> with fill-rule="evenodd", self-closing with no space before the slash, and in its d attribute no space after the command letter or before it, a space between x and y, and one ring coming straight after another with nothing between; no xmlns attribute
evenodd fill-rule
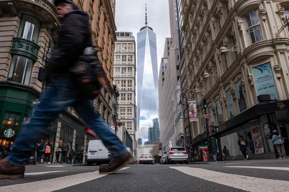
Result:
<svg viewBox="0 0 289 192"><path fill-rule="evenodd" d="M170 37L168 0L116 0L115 23L117 31L137 33L144 26L147 3L148 26L157 34L158 70L163 56L165 38ZM137 42L136 42L137 43Z"/></svg>

